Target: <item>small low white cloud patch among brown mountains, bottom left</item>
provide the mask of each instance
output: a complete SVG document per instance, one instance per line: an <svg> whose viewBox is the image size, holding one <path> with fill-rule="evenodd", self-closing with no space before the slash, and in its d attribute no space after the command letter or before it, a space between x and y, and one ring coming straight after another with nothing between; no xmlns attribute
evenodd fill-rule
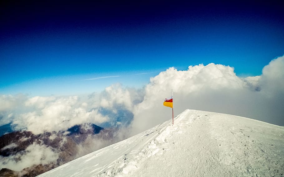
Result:
<svg viewBox="0 0 284 177"><path fill-rule="evenodd" d="M46 165L58 159L58 154L50 147L33 143L22 153L7 157L0 156L0 169L20 171L34 164Z"/></svg>

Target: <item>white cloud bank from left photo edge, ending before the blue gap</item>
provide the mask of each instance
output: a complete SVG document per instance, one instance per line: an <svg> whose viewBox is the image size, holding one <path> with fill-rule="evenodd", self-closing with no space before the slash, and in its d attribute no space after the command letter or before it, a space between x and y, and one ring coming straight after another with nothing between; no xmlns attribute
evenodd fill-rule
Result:
<svg viewBox="0 0 284 177"><path fill-rule="evenodd" d="M107 116L92 109L92 104L78 96L27 98L23 95L1 95L1 125L12 122L15 130L32 131L34 134L58 132L76 124L100 124L108 121ZM91 101L92 103L94 101Z"/></svg>

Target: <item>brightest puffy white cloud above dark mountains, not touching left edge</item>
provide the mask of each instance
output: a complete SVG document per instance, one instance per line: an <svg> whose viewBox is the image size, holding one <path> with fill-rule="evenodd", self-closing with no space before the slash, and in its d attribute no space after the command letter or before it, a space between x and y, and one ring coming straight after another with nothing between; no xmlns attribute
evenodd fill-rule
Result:
<svg viewBox="0 0 284 177"><path fill-rule="evenodd" d="M13 124L17 129L26 129L35 134L44 131L66 130L81 123L103 123L108 120L97 110L90 110L86 102L80 102L78 96L70 97L32 97L25 106L33 107L32 111L19 114Z"/></svg>

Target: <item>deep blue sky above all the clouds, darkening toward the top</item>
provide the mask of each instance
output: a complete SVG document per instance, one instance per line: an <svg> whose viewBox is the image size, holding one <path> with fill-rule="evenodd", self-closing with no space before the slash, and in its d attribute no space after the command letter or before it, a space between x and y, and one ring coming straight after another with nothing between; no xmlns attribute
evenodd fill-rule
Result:
<svg viewBox="0 0 284 177"><path fill-rule="evenodd" d="M1 1L0 23L0 94L139 87L200 63L255 76L284 54L279 2Z"/></svg>

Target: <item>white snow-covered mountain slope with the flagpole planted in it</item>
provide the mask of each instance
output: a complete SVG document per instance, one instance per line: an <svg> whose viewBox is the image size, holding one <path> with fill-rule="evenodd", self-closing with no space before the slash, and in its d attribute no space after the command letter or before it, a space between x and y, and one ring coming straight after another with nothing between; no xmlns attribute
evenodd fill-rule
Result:
<svg viewBox="0 0 284 177"><path fill-rule="evenodd" d="M174 125L169 120L39 176L283 176L283 159L283 127L187 109Z"/></svg>

